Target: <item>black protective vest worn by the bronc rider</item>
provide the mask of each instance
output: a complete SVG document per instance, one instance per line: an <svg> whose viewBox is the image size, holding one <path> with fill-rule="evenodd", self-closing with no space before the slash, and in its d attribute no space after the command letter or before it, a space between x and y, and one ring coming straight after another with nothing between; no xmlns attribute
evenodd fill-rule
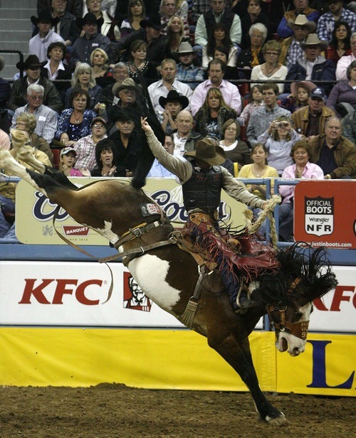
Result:
<svg viewBox="0 0 356 438"><path fill-rule="evenodd" d="M199 208L204 213L214 215L221 200L223 176L220 166L211 166L201 169L194 161L189 159L193 168L192 176L183 184L184 207L189 212Z"/></svg>

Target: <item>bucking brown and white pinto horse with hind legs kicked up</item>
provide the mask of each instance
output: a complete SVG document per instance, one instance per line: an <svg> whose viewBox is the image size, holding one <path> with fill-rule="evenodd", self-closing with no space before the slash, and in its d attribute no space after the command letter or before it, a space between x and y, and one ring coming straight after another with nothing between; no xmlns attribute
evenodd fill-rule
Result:
<svg viewBox="0 0 356 438"><path fill-rule="evenodd" d="M26 152L22 159L25 155ZM142 216L142 207L152 200L140 188L115 179L77 188L62 173L53 172L41 163L33 163L30 155L27 154L27 159L42 173L29 171L4 150L0 151L0 168L31 183L53 203L61 205L78 223L93 228L113 245L132 230L135 238L127 240L122 247L120 245L119 250L145 248L169 240L172 225L162 221L161 215ZM142 223L157 226L152 225L151 230L141 234ZM314 252L309 249L304 257L298 251L298 245L293 245L278 252L278 260L281 269L273 275L262 275L254 284L252 297L257 306L244 315L236 314L228 295L220 287L215 287L219 277L209 275L204 281L192 324L192 329L206 336L209 346L239 373L251 391L260 417L275 423L284 422L285 417L266 400L258 386L248 335L268 311L276 329L276 347L279 351L288 349L291 356L298 356L305 349L313 299L336 286L335 274L330 270L323 249ZM128 269L147 297L177 319L186 309L199 278L197 263L177 245L155 247L144 252L128 262Z"/></svg>

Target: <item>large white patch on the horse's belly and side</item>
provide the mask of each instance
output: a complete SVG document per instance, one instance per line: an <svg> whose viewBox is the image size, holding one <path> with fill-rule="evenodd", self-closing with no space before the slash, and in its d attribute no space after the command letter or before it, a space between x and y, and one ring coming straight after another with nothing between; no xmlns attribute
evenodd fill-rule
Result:
<svg viewBox="0 0 356 438"><path fill-rule="evenodd" d="M172 307L179 301L180 291L169 286L165 280L169 262L155 255L146 254L132 260L129 269L147 297L172 314Z"/></svg>

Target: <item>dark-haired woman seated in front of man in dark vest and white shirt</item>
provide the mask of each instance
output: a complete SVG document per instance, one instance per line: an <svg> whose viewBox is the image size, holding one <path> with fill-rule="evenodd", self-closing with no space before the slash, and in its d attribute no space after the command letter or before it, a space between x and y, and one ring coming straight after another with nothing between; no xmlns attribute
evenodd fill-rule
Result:
<svg viewBox="0 0 356 438"><path fill-rule="evenodd" d="M235 67L236 58L239 50L231 43L229 32L226 31L224 23L215 23L212 33L208 36L208 43L203 47L203 68L207 68L209 62L214 59L216 48L226 47L229 50L229 56L226 60L226 65Z"/></svg>

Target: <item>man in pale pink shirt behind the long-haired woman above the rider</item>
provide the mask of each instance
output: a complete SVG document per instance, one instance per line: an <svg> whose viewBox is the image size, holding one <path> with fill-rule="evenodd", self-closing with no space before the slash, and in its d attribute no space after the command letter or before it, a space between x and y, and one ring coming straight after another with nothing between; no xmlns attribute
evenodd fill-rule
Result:
<svg viewBox="0 0 356 438"><path fill-rule="evenodd" d="M191 100L192 114L197 114L199 108L203 105L206 94L211 87L217 87L220 89L221 94L224 97L226 105L233 108L236 114L241 112L241 96L239 89L231 82L224 80L224 73L226 65L219 59L214 59L209 62L208 76L209 79L201 82L200 85L194 90L194 94Z"/></svg>

